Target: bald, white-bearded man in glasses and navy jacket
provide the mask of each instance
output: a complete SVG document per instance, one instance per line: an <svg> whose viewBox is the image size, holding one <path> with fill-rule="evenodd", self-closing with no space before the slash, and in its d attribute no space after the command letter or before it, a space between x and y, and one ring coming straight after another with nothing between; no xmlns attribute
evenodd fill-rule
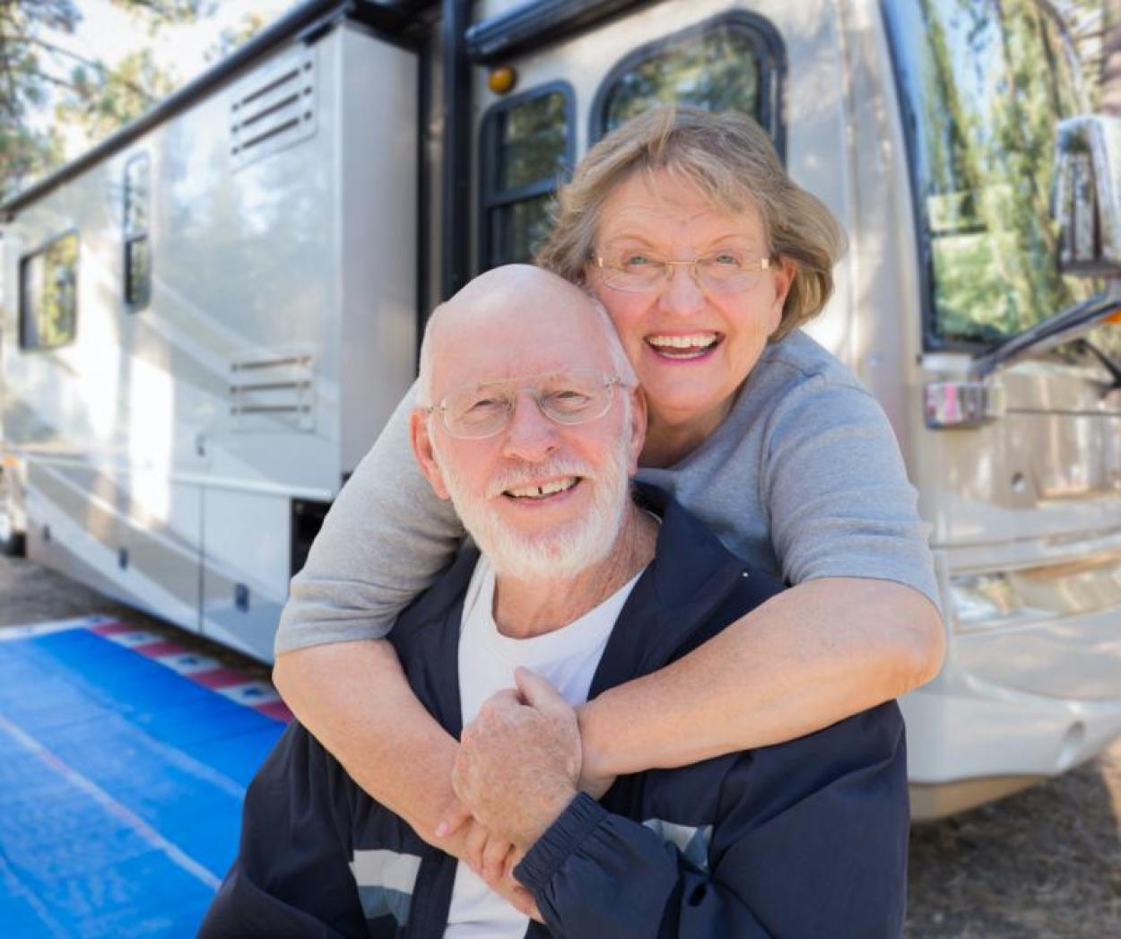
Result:
<svg viewBox="0 0 1121 939"><path fill-rule="evenodd" d="M419 388L417 459L479 550L390 638L425 706L452 734L466 727L455 788L515 846L516 884L492 891L426 844L294 725L250 787L241 853L201 935L897 935L893 704L620 778L600 801L578 791L573 706L775 592L671 500L631 498L645 409L602 310L543 271L491 271L433 316Z"/></svg>

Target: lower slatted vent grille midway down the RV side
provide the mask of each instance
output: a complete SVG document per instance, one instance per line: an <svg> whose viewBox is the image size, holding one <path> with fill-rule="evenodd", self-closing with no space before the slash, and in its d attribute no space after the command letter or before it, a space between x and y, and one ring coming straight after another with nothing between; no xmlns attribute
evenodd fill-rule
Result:
<svg viewBox="0 0 1121 939"><path fill-rule="evenodd" d="M312 356L241 359L230 364L230 415L238 430L276 429L277 425L315 429Z"/></svg>

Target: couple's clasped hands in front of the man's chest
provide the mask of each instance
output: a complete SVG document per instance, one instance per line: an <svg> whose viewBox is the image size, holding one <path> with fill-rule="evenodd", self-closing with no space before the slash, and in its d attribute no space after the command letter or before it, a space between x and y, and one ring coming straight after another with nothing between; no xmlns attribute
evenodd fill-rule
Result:
<svg viewBox="0 0 1121 939"><path fill-rule="evenodd" d="M583 789L600 797L613 781L582 777L584 751L576 712L544 678L515 672L517 688L499 691L464 727L452 770L455 800L436 829L520 912L540 920L513 867Z"/></svg>

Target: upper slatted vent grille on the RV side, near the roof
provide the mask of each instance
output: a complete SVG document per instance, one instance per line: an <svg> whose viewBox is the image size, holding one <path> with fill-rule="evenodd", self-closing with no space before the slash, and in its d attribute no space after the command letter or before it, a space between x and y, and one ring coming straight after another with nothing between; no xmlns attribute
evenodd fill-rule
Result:
<svg viewBox="0 0 1121 939"><path fill-rule="evenodd" d="M294 49L233 90L230 157L234 169L315 133L316 71L314 46Z"/></svg>

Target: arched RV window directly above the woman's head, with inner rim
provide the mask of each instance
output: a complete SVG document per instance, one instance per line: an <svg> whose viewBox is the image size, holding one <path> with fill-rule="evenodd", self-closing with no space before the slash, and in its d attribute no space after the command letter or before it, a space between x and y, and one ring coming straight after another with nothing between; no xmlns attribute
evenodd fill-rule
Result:
<svg viewBox="0 0 1121 939"><path fill-rule="evenodd" d="M742 111L775 138L781 154L782 47L766 20L731 13L636 49L604 80L592 105L597 139L659 104Z"/></svg>

